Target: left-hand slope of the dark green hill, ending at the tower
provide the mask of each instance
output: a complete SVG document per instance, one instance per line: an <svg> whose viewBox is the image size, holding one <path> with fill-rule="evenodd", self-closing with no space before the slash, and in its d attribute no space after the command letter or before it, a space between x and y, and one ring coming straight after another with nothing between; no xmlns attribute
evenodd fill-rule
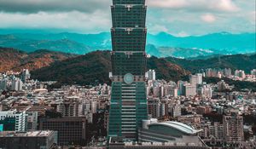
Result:
<svg viewBox="0 0 256 149"><path fill-rule="evenodd" d="M110 69L109 52L96 51L35 70L32 72L32 77L43 81L50 78L59 83L110 83L108 79Z"/></svg>

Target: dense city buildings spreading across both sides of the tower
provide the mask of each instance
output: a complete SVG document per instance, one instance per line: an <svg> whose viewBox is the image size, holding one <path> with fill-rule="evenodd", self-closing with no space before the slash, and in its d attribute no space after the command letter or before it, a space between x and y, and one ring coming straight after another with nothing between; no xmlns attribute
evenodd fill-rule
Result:
<svg viewBox="0 0 256 149"><path fill-rule="evenodd" d="M189 82L177 83L158 80L155 73L154 70L146 73L149 120L145 123L184 123L191 129L191 134L184 135L183 140L177 139L175 145L155 143L155 146L203 146L202 140L213 148L255 147L255 92L232 91L232 86L224 81L204 83L205 73L190 75ZM236 73L230 76L243 77ZM245 76L255 79L255 71ZM46 148L104 148L108 144L111 87L107 84L86 87L74 84L49 90L54 81L32 80L28 70L3 73L0 80L1 147L37 146L32 145L33 138ZM148 133L161 140L159 131L149 130L146 126L141 129L138 135L141 141ZM18 142L27 140L19 145L14 138L19 138Z"/></svg>

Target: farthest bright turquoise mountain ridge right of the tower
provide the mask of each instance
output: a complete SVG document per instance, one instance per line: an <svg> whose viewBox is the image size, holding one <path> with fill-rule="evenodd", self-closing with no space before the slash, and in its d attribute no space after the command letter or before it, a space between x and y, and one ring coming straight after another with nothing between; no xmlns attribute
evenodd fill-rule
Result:
<svg viewBox="0 0 256 149"><path fill-rule="evenodd" d="M218 49L236 52L255 52L255 33L231 34L218 32L203 36L174 37L166 32L148 35L148 43L157 47Z"/></svg>

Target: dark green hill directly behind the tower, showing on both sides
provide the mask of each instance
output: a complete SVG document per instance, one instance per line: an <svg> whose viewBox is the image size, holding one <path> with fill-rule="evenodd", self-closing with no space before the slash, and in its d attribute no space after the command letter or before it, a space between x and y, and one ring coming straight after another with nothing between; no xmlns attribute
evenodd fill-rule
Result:
<svg viewBox="0 0 256 149"><path fill-rule="evenodd" d="M166 80L178 80L189 74L180 66L156 57L148 59L148 69L155 69L157 77ZM110 83L109 72L111 72L109 51L96 51L35 70L32 72L32 77L44 81L51 78L59 83Z"/></svg>

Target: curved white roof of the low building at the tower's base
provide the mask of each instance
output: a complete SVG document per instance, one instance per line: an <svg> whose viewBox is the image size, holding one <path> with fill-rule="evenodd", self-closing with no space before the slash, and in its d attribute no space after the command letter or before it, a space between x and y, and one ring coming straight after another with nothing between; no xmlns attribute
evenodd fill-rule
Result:
<svg viewBox="0 0 256 149"><path fill-rule="evenodd" d="M195 135L201 130L196 130L190 127L189 125L186 125L184 123L179 123L179 122L174 122L174 121L167 121L163 123L151 123L148 125L150 126L164 126L170 129L176 129L177 131L183 132L184 134L187 135Z"/></svg>

